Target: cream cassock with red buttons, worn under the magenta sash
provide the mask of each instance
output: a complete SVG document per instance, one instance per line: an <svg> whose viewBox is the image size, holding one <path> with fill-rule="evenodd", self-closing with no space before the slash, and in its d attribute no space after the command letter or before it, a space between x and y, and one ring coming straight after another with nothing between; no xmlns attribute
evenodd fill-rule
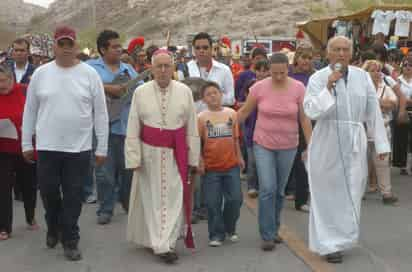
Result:
<svg viewBox="0 0 412 272"><path fill-rule="evenodd" d="M181 234L183 185L173 149L143 143L142 125L171 130L186 126L188 163L197 166L200 140L189 87L171 81L162 92L150 81L136 89L130 109L126 168L140 168L133 174L127 240L161 254L174 249Z"/></svg>

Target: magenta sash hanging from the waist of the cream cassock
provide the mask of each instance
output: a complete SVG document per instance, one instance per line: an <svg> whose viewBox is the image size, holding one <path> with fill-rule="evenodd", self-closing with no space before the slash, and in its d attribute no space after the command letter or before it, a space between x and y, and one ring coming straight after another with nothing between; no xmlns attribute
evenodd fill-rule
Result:
<svg viewBox="0 0 412 272"><path fill-rule="evenodd" d="M194 248L192 233L192 190L189 186L188 152L186 140L186 127L178 129L160 129L142 124L140 139L147 145L155 147L167 147L173 149L177 168L183 182L183 208L187 224L185 244L187 248Z"/></svg>

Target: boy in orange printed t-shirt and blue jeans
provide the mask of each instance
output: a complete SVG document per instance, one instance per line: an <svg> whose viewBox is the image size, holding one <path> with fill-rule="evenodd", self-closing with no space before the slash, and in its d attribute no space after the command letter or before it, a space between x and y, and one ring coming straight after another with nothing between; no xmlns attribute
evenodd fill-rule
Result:
<svg viewBox="0 0 412 272"><path fill-rule="evenodd" d="M202 140L199 173L203 174L209 246L218 247L226 235L232 242L239 240L236 223L242 205L240 170L245 163L240 152L236 112L222 107L219 85L208 82L202 87L201 95L208 110L198 115Z"/></svg>

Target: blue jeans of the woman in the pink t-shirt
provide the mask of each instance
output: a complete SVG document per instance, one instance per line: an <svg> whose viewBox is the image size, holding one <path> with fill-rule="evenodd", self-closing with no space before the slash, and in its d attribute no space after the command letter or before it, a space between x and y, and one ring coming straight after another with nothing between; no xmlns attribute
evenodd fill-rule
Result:
<svg viewBox="0 0 412 272"><path fill-rule="evenodd" d="M296 148L270 150L253 146L259 176L259 232L265 241L273 240L279 231L285 187Z"/></svg>

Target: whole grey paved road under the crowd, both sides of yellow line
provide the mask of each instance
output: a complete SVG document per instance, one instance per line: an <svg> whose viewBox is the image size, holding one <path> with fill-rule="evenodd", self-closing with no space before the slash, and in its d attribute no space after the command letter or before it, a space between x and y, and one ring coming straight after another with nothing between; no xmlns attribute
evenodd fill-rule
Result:
<svg viewBox="0 0 412 272"><path fill-rule="evenodd" d="M361 246L345 256L343 264L333 266L337 272L410 272L412 271L412 177L393 172L394 191L400 197L399 207L385 207L378 195L368 195L362 211ZM166 266L144 249L136 249L125 240L126 215L118 209L112 224L96 224L96 205L85 205L81 217L81 249L84 260L67 262L61 247L50 250L44 243L45 228L41 204L38 205L41 230L25 229L23 207L15 203L13 238L0 243L1 272L255 272L312 271L299 251L281 245L276 251L264 253L260 245L256 217L250 208L241 212L237 244L221 248L207 246L207 225L195 226L197 252L186 251L179 243L181 259L177 265ZM292 203L285 205L283 222L287 229L307 244L306 214L296 212Z"/></svg>

